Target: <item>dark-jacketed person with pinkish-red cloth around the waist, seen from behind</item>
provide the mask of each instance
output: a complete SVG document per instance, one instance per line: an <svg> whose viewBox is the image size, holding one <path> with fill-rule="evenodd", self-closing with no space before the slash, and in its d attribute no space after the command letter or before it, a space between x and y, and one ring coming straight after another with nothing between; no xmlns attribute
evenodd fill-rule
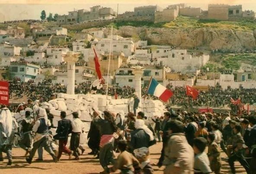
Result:
<svg viewBox="0 0 256 174"><path fill-rule="evenodd" d="M96 117L93 122L99 127L101 134L99 143L99 163L104 169L100 172L101 174L109 174L108 165L110 162L114 163L113 159L113 147L114 147L114 137L113 133L116 132L117 126L115 124L114 117L109 111L104 111L104 119L101 117Z"/></svg>

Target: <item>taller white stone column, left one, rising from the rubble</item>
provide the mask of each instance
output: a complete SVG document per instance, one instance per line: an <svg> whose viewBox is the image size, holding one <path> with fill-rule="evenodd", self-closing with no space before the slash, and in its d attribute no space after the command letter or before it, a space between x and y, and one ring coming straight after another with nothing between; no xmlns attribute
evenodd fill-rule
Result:
<svg viewBox="0 0 256 174"><path fill-rule="evenodd" d="M80 53L73 51L62 54L64 61L67 62L67 94L75 94L75 70L79 55Z"/></svg>

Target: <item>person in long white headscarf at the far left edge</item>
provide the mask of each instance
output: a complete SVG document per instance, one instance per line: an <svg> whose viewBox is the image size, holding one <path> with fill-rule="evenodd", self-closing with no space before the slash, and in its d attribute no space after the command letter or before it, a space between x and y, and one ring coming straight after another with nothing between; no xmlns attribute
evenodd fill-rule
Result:
<svg viewBox="0 0 256 174"><path fill-rule="evenodd" d="M3 107L0 113L0 161L3 161L2 152L5 152L8 158L7 165L12 165L13 130L12 114L8 108Z"/></svg>

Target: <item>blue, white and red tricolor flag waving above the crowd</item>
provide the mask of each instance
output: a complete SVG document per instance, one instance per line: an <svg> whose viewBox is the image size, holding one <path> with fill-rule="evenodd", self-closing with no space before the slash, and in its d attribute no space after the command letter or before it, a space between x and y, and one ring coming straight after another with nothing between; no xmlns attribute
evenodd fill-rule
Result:
<svg viewBox="0 0 256 174"><path fill-rule="evenodd" d="M147 89L147 94L154 95L163 102L166 102L173 96L173 92L166 89L163 85L159 84L157 80L151 79L150 84Z"/></svg>

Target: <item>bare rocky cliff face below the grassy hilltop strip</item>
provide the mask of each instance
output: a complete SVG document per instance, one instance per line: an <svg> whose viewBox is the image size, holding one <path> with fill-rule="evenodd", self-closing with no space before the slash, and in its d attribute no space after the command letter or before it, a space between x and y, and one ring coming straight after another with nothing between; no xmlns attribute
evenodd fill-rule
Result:
<svg viewBox="0 0 256 174"><path fill-rule="evenodd" d="M256 50L256 30L234 31L217 28L145 28L122 26L115 34L125 37L145 35L150 44L172 45L230 52Z"/></svg>

